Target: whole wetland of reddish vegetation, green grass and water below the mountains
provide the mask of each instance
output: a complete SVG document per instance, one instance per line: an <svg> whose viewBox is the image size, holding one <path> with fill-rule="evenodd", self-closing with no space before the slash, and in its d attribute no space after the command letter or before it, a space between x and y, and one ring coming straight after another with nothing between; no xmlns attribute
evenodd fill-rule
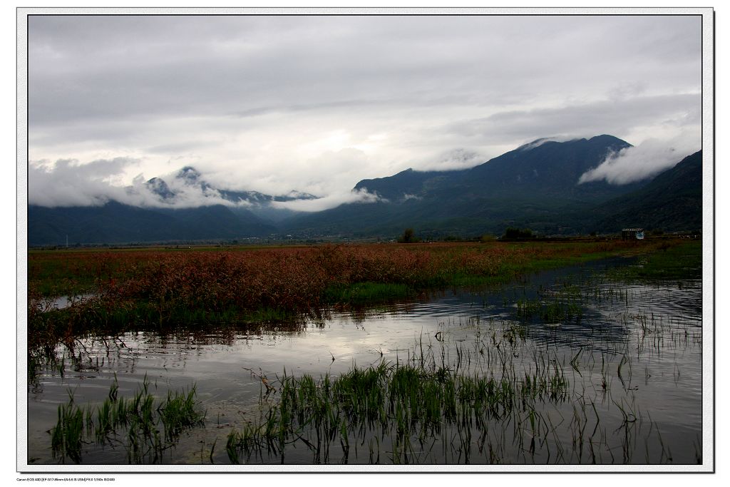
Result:
<svg viewBox="0 0 730 487"><path fill-rule="evenodd" d="M701 464L702 242L30 253L28 464Z"/></svg>

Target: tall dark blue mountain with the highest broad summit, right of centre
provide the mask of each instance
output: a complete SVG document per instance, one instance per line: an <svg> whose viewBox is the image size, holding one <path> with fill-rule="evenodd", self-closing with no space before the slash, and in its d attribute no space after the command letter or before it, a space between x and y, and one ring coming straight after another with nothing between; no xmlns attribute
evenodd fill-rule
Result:
<svg viewBox="0 0 730 487"><path fill-rule="evenodd" d="M538 139L471 169L449 172L407 170L362 180L355 188L382 196L373 204L345 204L283 222L289 232L358 236L399 234L499 234L507 226L529 226L543 234L588 231L585 215L596 204L634 191L629 184L580 178L612 154L631 147L617 137L558 142Z"/></svg>

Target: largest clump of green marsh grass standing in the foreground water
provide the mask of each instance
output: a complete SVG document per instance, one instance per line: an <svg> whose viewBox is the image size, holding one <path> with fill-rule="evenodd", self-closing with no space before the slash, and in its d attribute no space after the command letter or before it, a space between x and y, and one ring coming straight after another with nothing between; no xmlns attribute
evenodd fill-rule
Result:
<svg viewBox="0 0 730 487"><path fill-rule="evenodd" d="M544 354L529 370L506 365L496 372L492 365L505 366L521 340L513 330L495 333L491 340L499 345L493 353L450 350L422 338L404 361L380 361L318 380L284 373L277 399L261 421L228 434L228 459L284 460L291 448L301 445L315 463L334 461L334 452L339 461L347 463L351 455L358 461L359 452L367 448L369 461L399 464L425 461L431 455L427 452L447 441L445 456L453 449L461 459L451 461L469 461L472 449L478 450L477 456L483 453L494 428L530 421L535 429L542 424L535 404L561 403L569 396L564 367ZM491 372L472 373L475 367ZM522 444L521 426L516 432L514 441Z"/></svg>

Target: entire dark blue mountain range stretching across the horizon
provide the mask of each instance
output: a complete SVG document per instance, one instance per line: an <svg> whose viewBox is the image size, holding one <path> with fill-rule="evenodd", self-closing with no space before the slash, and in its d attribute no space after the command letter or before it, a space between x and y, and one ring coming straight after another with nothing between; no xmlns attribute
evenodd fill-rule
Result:
<svg viewBox="0 0 730 487"><path fill-rule="evenodd" d="M228 191L207 183L193 167L172 180L153 177L145 189L155 207L110 201L99 207L28 207L28 245L72 243L381 237L404 228L421 237L502 234L507 227L538 234L618 231L626 226L664 231L702 228L702 151L652 179L615 185L578 183L607 156L631 147L617 137L557 142L538 139L469 169L420 172L361 180L353 191L375 202L341 204L320 212L293 212L274 202L315 199L308 193L271 196ZM217 204L176 207L186 191ZM211 200L212 201L212 200Z"/></svg>

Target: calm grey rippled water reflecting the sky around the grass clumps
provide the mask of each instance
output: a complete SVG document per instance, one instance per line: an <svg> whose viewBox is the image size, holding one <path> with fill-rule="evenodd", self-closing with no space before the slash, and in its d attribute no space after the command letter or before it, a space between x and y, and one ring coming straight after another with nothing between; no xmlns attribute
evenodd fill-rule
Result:
<svg viewBox="0 0 730 487"><path fill-rule="evenodd" d="M82 340L73 350L77 359L66 358L63 375L47 370L29 387L28 461L61 461L52 456L48 433L58 405L68 401L69 391L77 404L103 401L114 375L121 396L134 394L145 377L158 396L195 384L199 407L206 411L205 426L183 434L163 462L210 464L212 457L216 464L226 464L224 446L231 429L260 420L266 402L276 400L275 394L262 399L261 377L275 386L284 371L315 378L339 375L355 365L407 363L424 349L439 360L468 361L469 373L494 373L489 357L502 356L502 351L494 349L493 338L517 326L519 343L510 350L510 367L529 371L536 357L547 357L564 368L569 381L569 400L542 404L537 433L531 426L537 444L532 441L526 448L518 431L525 426L512 418L493 425L488 434L497 456L480 448L484 440L479 445L477 434L466 450L453 448L450 435L455 433L444 429L442 438L416 452L416 461L696 464L702 445L699 275L650 285L604 279L604 271L617 265L627 262L544 272L498 289L445 291L380 310L331 310L327 319L307 321L296 331L166 337L140 333ZM520 303L576 299L580 319L519 313ZM59 353L72 354L68 349ZM380 461L390 463L392 445L387 437L383 441ZM363 451L343 458L338 443L325 460L368 463L369 454ZM249 459L291 464L313 460L304 445L286 451L283 458ZM122 445L89 444L82 462L125 464L127 457Z"/></svg>

